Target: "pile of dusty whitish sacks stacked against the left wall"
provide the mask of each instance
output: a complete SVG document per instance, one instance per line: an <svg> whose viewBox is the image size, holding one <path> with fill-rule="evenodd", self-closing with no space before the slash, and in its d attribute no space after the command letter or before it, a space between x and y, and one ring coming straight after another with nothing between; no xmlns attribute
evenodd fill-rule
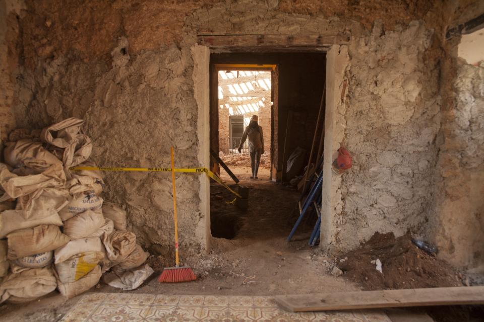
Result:
<svg viewBox="0 0 484 322"><path fill-rule="evenodd" d="M42 131L15 130L0 163L0 302L36 299L56 288L68 298L104 282L140 286L153 270L148 253L127 231L126 212L99 196L98 171L71 171L88 162L83 120Z"/></svg>

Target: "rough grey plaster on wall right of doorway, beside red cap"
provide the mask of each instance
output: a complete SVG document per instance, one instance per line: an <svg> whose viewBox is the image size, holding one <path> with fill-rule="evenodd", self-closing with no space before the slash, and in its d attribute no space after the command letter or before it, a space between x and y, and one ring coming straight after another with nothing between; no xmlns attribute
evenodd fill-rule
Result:
<svg viewBox="0 0 484 322"><path fill-rule="evenodd" d="M345 138L353 168L338 191L336 245L426 227L440 129L439 71L423 57L432 34L418 22L394 31L376 22L369 37L348 46Z"/></svg>

